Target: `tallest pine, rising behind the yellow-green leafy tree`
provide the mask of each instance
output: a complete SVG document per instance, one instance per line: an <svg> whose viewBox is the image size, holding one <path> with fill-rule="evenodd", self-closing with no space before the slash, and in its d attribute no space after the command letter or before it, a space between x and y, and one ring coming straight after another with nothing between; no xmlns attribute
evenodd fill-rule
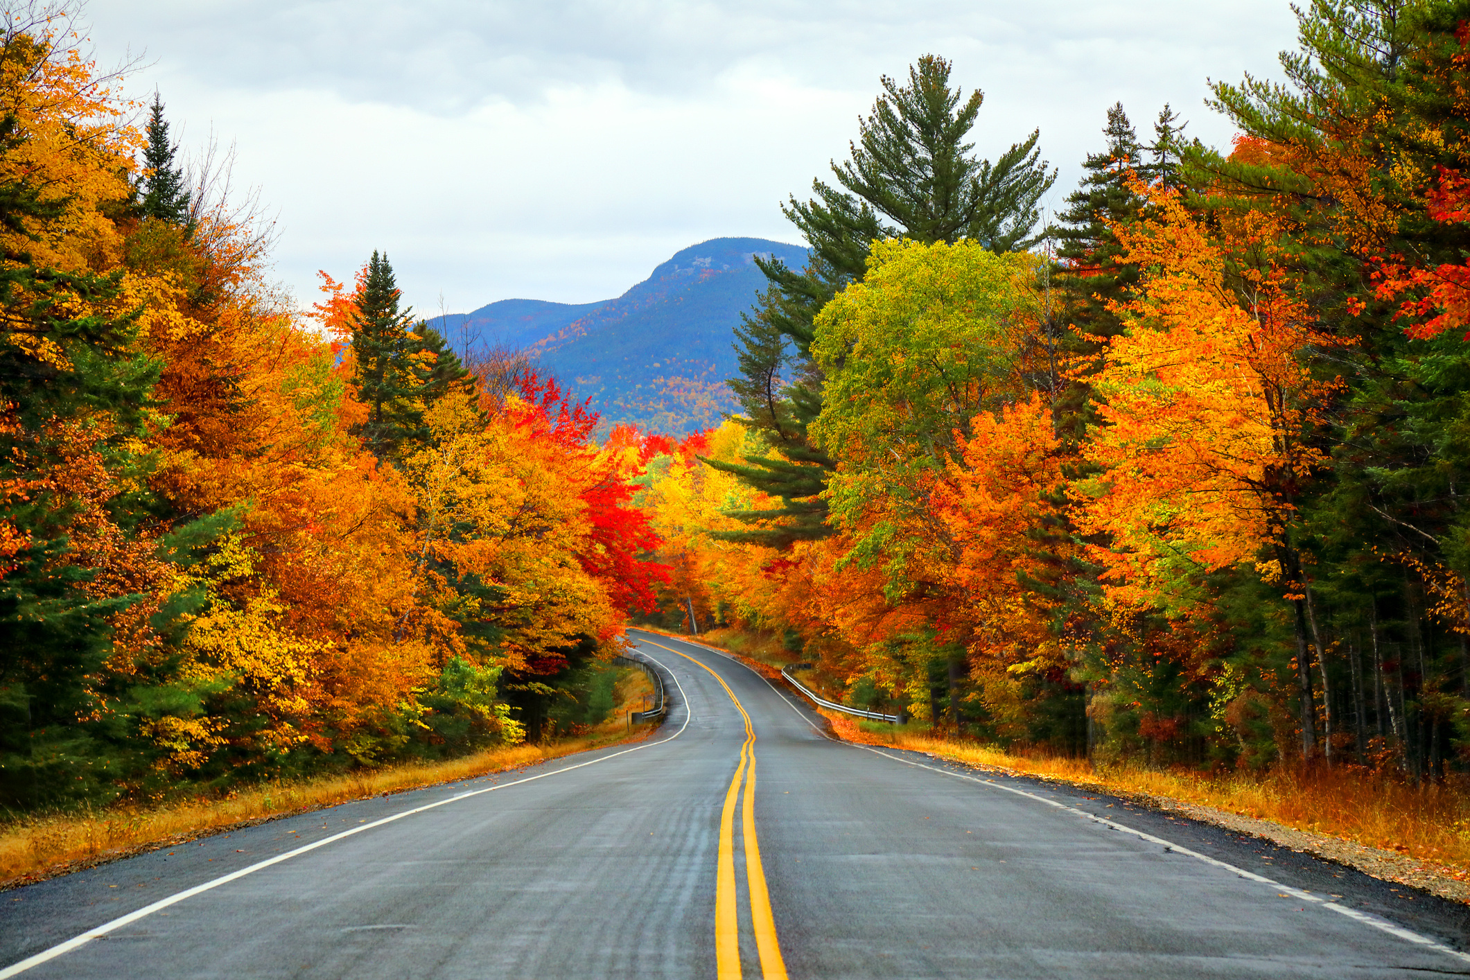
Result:
<svg viewBox="0 0 1470 980"><path fill-rule="evenodd" d="M813 320L838 289L863 278L875 239L972 238L995 251L1036 241L1038 204L1055 179L1036 150L1039 131L995 163L976 159L966 137L983 94L964 98L950 87L950 62L925 54L910 66L907 85L883 76L883 93L858 125L851 159L832 165L839 187L816 179L813 198L792 197L782 206L810 248L806 269L756 260L770 285L736 334L741 378L729 383L747 422L779 457L710 466L782 504L735 513L766 526L725 538L785 547L831 533L819 494L833 461L807 438L808 423L822 410L822 375L810 357Z"/></svg>

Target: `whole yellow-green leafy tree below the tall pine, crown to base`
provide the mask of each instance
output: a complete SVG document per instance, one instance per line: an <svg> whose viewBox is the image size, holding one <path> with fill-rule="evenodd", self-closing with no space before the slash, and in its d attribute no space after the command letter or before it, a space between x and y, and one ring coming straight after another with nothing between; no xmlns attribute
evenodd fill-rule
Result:
<svg viewBox="0 0 1470 980"><path fill-rule="evenodd" d="M811 433L838 461L828 495L831 520L845 532L839 566L870 572L864 591L876 586L873 601L895 610L875 607L869 619L907 623L916 635L925 617L953 619L956 542L933 494L973 422L1026 394L1036 264L972 239L875 242L867 276L817 316L811 351L826 392ZM894 629L872 627L873 642L892 644ZM931 639L922 642L931 652L914 660L923 670L947 663L954 707L964 645Z"/></svg>

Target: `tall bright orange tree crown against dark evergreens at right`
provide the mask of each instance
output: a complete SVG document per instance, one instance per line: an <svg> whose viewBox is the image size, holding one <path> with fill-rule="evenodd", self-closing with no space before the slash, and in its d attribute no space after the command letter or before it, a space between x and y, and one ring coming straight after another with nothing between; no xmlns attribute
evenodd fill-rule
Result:
<svg viewBox="0 0 1470 980"><path fill-rule="evenodd" d="M1242 307L1225 250L1175 194L1152 203L1157 217L1116 229L1145 273L1119 307L1129 331L1092 379L1105 403L1083 455L1102 475L1073 494L1082 530L1113 542L1088 551L1114 602L1188 605L1183 582L1274 539L1294 478L1322 460L1302 439L1322 388L1297 353L1323 338L1269 260L1242 273ZM1251 212L1230 232L1269 259L1269 216Z"/></svg>

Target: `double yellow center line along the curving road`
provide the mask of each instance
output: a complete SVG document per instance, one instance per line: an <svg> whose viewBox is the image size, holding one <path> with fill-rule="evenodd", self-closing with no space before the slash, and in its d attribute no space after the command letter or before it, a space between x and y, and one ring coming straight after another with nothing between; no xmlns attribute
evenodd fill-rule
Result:
<svg viewBox="0 0 1470 980"><path fill-rule="evenodd" d="M750 714L725 679L707 664L651 639L638 642L679 654L709 670L735 702L735 710L745 718L745 742L739 746L739 765L735 767L735 777L725 792L725 808L720 811L720 852L714 884L714 962L719 980L741 980L739 909L735 893L735 804L741 798L739 788L744 779L741 836L745 842L745 887L750 892L750 920L756 933L756 949L760 952L760 973L764 980L786 980L786 964L781 958L781 943L776 942L776 920L770 914L770 893L766 890L766 871L760 865L760 842L756 837L756 730L750 726Z"/></svg>

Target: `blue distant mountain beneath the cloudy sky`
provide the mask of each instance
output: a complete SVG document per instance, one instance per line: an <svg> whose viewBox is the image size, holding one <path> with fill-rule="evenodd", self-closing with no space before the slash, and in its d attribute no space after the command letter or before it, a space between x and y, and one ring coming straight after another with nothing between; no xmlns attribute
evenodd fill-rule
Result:
<svg viewBox="0 0 1470 980"><path fill-rule="evenodd" d="M616 300L501 300L447 317L444 328L465 325L481 347L529 350L609 422L689 432L734 407L725 386L736 372L734 331L766 287L756 254L798 269L807 262L800 245L713 238L675 253Z"/></svg>

